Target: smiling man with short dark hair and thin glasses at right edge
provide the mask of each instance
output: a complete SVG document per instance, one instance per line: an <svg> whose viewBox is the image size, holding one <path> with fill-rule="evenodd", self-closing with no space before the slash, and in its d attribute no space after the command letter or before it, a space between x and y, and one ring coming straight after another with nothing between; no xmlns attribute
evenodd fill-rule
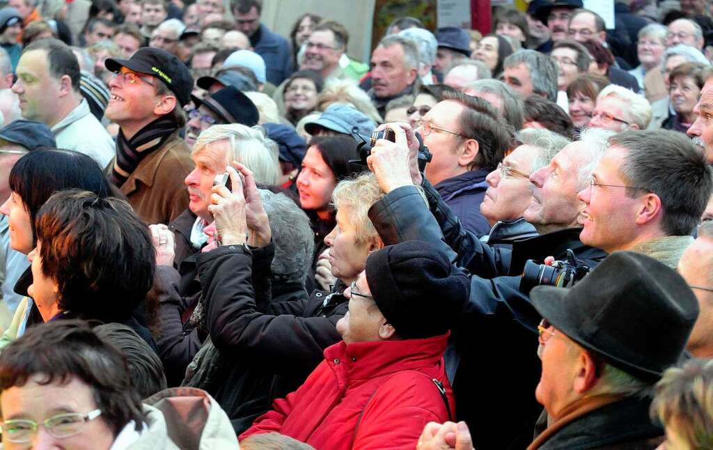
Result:
<svg viewBox="0 0 713 450"><path fill-rule="evenodd" d="M676 267L712 190L712 168L681 133L619 133L579 193L586 205L580 239L607 253L643 252Z"/></svg>

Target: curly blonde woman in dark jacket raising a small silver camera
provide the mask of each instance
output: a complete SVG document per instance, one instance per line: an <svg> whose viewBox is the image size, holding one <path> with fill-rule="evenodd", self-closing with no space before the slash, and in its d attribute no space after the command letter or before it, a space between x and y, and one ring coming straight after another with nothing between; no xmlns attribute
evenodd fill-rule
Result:
<svg viewBox="0 0 713 450"><path fill-rule="evenodd" d="M262 269L270 255L272 225L265 227L260 198L248 170L245 188L232 172L234 187L214 188L211 212L222 238L222 247L198 257L200 282L205 297L205 320L212 344L230 355L215 383L202 384L227 409L237 431L247 429L255 417L304 382L322 360L322 352L339 342L336 322L347 312L344 290L364 270L366 257L383 247L371 225L369 207L383 196L373 175L345 180L334 189L337 225L327 235L332 272L338 278L332 292L315 291L290 302L264 302ZM247 215L247 211L252 211ZM259 212L255 214L255 212ZM260 219L262 217L262 219ZM262 247L245 247L245 237L262 236ZM240 355L236 358L233 355ZM204 363L207 364L207 363ZM201 364L202 365L202 364ZM215 373L215 372L214 372ZM272 389L265 389L265 386Z"/></svg>

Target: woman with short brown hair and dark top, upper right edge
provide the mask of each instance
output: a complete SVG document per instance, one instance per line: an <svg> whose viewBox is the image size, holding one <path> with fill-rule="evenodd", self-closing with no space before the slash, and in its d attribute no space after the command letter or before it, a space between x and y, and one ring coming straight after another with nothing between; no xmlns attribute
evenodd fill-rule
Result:
<svg viewBox="0 0 713 450"><path fill-rule="evenodd" d="M675 114L669 116L662 124L665 130L686 133L696 120L693 108L703 88L702 69L705 66L697 63L683 63L676 66L669 75L669 98Z"/></svg>

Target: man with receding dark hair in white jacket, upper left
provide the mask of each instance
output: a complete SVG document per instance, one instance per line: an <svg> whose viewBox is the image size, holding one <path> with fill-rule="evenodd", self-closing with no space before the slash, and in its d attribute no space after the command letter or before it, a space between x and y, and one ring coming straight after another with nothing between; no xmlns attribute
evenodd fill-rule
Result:
<svg viewBox="0 0 713 450"><path fill-rule="evenodd" d="M16 73L12 91L24 118L50 127L60 148L89 155L102 168L111 162L113 139L81 95L79 63L66 44L56 39L30 44Z"/></svg>

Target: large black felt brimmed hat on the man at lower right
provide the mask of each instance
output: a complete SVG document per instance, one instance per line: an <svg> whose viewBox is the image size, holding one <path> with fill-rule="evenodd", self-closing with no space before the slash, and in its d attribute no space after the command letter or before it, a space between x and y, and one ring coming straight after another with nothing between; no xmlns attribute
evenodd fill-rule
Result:
<svg viewBox="0 0 713 450"><path fill-rule="evenodd" d="M537 286L530 298L555 329L647 380L684 357L699 312L677 272L636 252L614 252L571 289Z"/></svg>

